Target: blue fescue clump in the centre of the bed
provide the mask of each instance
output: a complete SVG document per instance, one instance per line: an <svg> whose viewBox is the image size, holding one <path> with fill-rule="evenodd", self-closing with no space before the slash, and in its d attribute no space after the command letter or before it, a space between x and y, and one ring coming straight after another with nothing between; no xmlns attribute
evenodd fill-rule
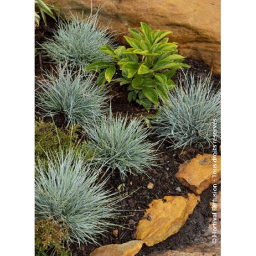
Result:
<svg viewBox="0 0 256 256"><path fill-rule="evenodd" d="M119 170L121 179L129 173L147 174L154 166L154 144L147 142L148 129L136 119L104 116L88 129L89 148L97 152L94 161L108 170Z"/></svg>

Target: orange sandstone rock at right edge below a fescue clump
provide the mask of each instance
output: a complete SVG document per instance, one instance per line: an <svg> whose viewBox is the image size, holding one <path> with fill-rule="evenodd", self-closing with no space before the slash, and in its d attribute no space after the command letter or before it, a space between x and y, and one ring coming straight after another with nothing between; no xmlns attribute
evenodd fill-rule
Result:
<svg viewBox="0 0 256 256"><path fill-rule="evenodd" d="M214 171L212 154L198 154L190 162L180 165L176 178L196 194L201 194L210 184L219 184L221 181L221 156L217 156L217 168ZM216 176L212 177L212 174Z"/></svg>

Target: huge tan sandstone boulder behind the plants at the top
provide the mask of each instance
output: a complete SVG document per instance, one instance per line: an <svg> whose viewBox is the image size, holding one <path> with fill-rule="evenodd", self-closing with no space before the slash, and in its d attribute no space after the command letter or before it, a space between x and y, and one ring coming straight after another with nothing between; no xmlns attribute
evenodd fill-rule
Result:
<svg viewBox="0 0 256 256"><path fill-rule="evenodd" d="M60 8L64 17L100 9L100 26L118 31L116 37L125 43L128 28L138 28L140 21L153 29L172 30L170 39L179 43L179 53L202 60L220 73L221 1L220 0L46 0Z"/></svg>

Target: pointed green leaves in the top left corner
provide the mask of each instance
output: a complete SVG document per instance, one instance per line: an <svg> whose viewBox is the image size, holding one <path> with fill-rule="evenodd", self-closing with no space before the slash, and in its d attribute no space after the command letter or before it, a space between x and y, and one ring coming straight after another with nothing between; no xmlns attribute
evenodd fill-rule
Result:
<svg viewBox="0 0 256 256"><path fill-rule="evenodd" d="M35 0L35 8L39 10L45 26L47 26L46 15L55 19L55 15L53 14L53 12L54 11L56 12L57 9L54 8L53 6L50 6L48 3L44 3L44 1L42 0ZM38 12L35 11L35 23L39 25L39 21L40 21L40 16L38 15Z"/></svg>

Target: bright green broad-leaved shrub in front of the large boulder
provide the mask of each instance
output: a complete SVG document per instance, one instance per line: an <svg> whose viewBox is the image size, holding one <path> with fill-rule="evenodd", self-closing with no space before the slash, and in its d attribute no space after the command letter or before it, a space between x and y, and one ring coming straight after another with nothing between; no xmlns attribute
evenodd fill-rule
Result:
<svg viewBox="0 0 256 256"><path fill-rule="evenodd" d="M128 100L136 100L149 111L152 104L158 107L159 100L167 102L168 91L175 86L171 78L176 70L190 66L181 63L184 57L177 54L177 44L168 43L165 36L171 31L152 30L147 24L140 24L140 30L129 29L133 38L125 37L131 48L120 46L113 50L107 44L100 47L103 53L113 58L114 63L100 60L86 66L85 70L107 68L98 77L98 84L102 85L106 81L111 82L116 72L115 64L118 64L122 77L114 81L120 85L129 84Z"/></svg>

